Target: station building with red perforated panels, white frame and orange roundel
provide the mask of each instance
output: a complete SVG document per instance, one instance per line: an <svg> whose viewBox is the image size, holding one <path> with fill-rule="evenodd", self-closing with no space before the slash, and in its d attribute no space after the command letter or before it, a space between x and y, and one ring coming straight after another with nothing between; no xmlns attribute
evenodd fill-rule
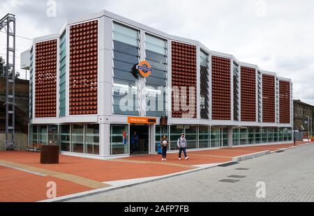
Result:
<svg viewBox="0 0 314 216"><path fill-rule="evenodd" d="M109 157L154 154L162 134L174 151L182 132L188 149L292 142L291 80L198 41L103 10L26 53L29 145Z"/></svg>

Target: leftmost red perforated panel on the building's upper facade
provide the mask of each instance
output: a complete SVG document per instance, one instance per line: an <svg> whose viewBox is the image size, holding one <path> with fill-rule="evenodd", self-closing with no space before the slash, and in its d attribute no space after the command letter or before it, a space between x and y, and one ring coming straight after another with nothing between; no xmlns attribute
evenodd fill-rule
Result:
<svg viewBox="0 0 314 216"><path fill-rule="evenodd" d="M57 40L36 43L35 117L57 116Z"/></svg>

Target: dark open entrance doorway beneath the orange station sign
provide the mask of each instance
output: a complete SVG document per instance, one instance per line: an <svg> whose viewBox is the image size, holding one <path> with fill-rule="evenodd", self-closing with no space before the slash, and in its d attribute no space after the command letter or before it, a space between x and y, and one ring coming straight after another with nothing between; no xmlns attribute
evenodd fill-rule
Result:
<svg viewBox="0 0 314 216"><path fill-rule="evenodd" d="M149 153L149 126L130 125L130 154Z"/></svg>

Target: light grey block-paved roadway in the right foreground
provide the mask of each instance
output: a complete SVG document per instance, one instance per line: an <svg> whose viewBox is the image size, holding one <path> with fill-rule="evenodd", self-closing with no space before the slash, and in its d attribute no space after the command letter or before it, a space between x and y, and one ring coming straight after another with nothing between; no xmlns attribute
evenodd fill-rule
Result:
<svg viewBox="0 0 314 216"><path fill-rule="evenodd" d="M313 202L313 155L314 145L307 145L68 201Z"/></svg>

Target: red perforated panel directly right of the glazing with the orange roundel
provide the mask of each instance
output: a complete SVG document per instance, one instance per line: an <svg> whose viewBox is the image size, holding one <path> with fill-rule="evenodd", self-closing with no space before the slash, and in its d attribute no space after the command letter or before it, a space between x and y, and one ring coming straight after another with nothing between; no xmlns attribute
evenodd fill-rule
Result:
<svg viewBox="0 0 314 216"><path fill-rule="evenodd" d="M172 88L183 86L187 88L187 102L195 101L194 114L187 115L180 105L179 111L174 109L174 95L172 95L172 118L196 118L196 47L184 43L172 42ZM189 87L195 88L195 93L188 91Z"/></svg>

